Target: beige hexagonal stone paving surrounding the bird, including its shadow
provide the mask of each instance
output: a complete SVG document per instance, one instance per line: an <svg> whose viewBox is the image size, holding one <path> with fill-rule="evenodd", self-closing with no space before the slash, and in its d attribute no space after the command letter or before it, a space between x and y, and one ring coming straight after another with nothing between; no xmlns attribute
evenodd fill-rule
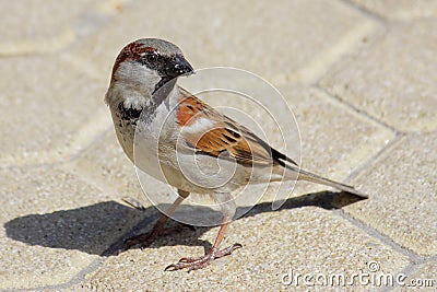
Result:
<svg viewBox="0 0 437 292"><path fill-rule="evenodd" d="M437 1L3 0L0 15L0 290L437 289ZM217 227L118 253L158 212L121 200L142 191L103 98L120 48L152 36L196 68L271 82L303 165L370 198L298 183L279 211L264 198L231 225L223 245L244 248L190 273L164 268ZM370 277L321 285L339 273Z"/></svg>

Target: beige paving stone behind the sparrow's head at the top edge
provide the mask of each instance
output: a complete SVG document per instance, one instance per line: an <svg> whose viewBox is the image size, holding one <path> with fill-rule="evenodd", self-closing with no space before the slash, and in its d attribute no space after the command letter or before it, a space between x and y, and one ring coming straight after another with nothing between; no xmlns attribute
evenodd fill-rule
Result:
<svg viewBox="0 0 437 292"><path fill-rule="evenodd" d="M314 80L373 30L373 21L341 1L133 2L78 44L72 59L91 60L107 80L121 47L160 37L180 46L194 68L237 67L284 83Z"/></svg>

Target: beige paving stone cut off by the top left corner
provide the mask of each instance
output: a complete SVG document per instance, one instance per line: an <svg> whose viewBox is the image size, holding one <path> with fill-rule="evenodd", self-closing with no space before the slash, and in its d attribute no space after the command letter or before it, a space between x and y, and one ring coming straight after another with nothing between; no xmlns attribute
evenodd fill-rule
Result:
<svg viewBox="0 0 437 292"><path fill-rule="evenodd" d="M45 54L67 47L114 12L116 3L111 2L115 1L3 1L0 17L8 28L0 32L0 55Z"/></svg>

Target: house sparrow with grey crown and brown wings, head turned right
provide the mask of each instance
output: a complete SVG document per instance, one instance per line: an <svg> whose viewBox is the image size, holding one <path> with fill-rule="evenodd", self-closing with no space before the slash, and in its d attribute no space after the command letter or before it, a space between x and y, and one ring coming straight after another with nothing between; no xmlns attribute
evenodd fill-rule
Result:
<svg viewBox="0 0 437 292"><path fill-rule="evenodd" d="M249 129L177 85L178 77L191 73L193 68L182 51L176 45L156 38L127 45L115 61L105 102L110 108L118 141L138 167L176 187L179 194L153 230L127 241L127 248L137 244L150 245L168 215L190 192L208 195L220 203L223 213L220 232L204 256L182 258L166 270L201 269L241 247L234 244L218 249L236 210L231 192L248 182L304 179L367 197L351 186L300 170L296 162ZM137 129L140 125L141 129ZM145 149L140 161L134 160L133 154L135 131L144 137L140 140ZM156 151L158 153L154 153ZM190 159L192 156L197 157L196 162ZM232 176L226 176L227 182L218 182L224 176L202 177L201 184L193 182L192 177L200 176L199 168L206 170L217 161L221 167L232 170Z"/></svg>

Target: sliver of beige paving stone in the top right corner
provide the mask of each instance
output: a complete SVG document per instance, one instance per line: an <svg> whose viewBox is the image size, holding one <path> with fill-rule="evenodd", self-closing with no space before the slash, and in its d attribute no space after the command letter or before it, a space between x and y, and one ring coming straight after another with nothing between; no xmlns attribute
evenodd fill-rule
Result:
<svg viewBox="0 0 437 292"><path fill-rule="evenodd" d="M353 0L353 2L383 17L394 20L437 15L437 3L433 0Z"/></svg>

